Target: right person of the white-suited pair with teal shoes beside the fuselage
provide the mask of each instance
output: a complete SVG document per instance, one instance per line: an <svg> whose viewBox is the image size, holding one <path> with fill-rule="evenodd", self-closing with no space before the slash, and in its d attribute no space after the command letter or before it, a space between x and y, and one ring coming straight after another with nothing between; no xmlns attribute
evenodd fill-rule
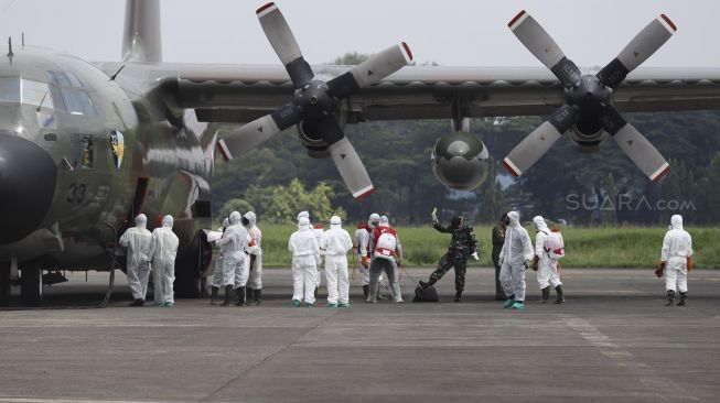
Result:
<svg viewBox="0 0 720 403"><path fill-rule="evenodd" d="M155 306L172 307L175 305L173 283L175 282L175 257L180 240L172 231L172 216L164 216L162 226L152 231L149 255L152 258Z"/></svg>

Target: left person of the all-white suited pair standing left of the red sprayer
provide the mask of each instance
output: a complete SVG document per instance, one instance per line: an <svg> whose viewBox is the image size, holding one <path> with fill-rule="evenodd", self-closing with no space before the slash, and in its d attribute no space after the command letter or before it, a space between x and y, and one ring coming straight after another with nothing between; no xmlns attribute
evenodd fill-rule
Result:
<svg viewBox="0 0 720 403"><path fill-rule="evenodd" d="M300 307L315 304L315 284L320 266L320 246L312 233L308 217L300 217L298 230L288 240L288 250L292 253L292 306Z"/></svg>

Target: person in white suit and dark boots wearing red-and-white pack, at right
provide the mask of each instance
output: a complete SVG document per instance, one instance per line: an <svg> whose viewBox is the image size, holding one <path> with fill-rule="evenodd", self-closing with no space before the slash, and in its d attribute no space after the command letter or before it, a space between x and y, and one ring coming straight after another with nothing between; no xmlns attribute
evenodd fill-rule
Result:
<svg viewBox="0 0 720 403"><path fill-rule="evenodd" d="M550 299L550 286L555 288L558 294L556 304L562 304L565 297L562 294L562 282L558 274L558 259L552 251L545 249L545 243L550 235L550 229L541 216L533 218L533 225L537 230L535 235L535 258L533 260L533 270L537 271L537 282L542 292L542 304L547 304Z"/></svg>

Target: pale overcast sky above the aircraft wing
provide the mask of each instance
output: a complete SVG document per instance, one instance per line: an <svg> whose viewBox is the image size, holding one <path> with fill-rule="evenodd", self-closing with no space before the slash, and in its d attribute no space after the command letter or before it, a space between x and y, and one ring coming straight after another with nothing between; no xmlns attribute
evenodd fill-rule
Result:
<svg viewBox="0 0 720 403"><path fill-rule="evenodd" d="M279 64L257 21L264 0L163 0L163 58ZM277 0L311 64L406 41L418 62L539 66L507 22L527 10L580 66L602 66L666 13L677 33L644 65L720 67L718 0ZM0 34L88 61L120 57L123 0L0 0Z"/></svg>

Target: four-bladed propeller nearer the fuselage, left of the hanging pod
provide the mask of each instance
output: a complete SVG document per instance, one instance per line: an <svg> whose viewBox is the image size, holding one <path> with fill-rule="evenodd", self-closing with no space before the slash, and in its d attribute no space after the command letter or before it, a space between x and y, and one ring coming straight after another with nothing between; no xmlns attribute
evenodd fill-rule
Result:
<svg viewBox="0 0 720 403"><path fill-rule="evenodd" d="M301 123L322 137L327 151L353 197L359 199L373 192L373 183L353 144L338 123L338 101L361 88L378 83L412 61L412 53L402 42L370 56L348 72L324 81L316 79L305 62L298 42L280 9L267 3L257 17L275 53L284 65L295 88L291 102L251 121L217 142L225 160L232 160L264 143L280 131Z"/></svg>

